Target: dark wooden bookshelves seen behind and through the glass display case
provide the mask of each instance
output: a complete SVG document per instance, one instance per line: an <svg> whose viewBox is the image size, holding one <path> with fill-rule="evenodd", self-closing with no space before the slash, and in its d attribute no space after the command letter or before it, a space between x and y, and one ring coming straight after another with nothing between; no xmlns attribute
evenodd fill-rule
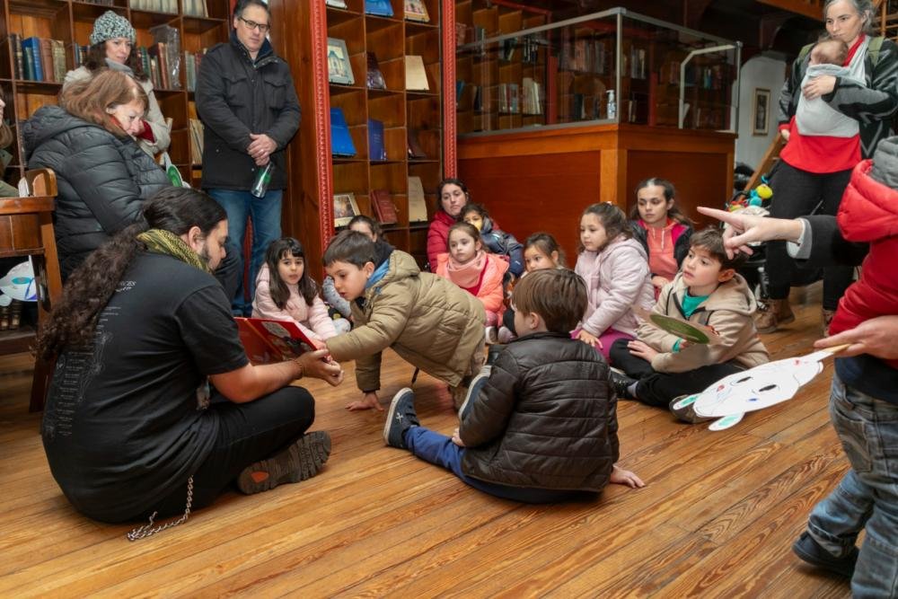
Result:
<svg viewBox="0 0 898 599"><path fill-rule="evenodd" d="M626 14L619 24L617 14L609 12L559 29L515 35L571 14L569 4L560 3L557 10L545 5L456 1L460 134L595 120L678 126L679 66L691 49L689 40L698 37ZM494 38L503 39L477 44ZM726 55L691 59L685 74L686 128L731 127L735 72ZM610 115L611 91L615 110Z"/></svg>

